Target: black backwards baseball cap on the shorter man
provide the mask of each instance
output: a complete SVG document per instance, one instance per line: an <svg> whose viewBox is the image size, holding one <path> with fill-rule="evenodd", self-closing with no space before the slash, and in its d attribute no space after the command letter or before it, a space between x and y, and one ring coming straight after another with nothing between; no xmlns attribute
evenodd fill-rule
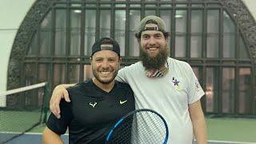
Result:
<svg viewBox="0 0 256 144"><path fill-rule="evenodd" d="M113 38L100 38L96 42L94 42L94 45L91 48L91 55L93 56L94 53L100 50L112 50L115 53L118 54L120 57L120 47L117 41L115 41Z"/></svg>

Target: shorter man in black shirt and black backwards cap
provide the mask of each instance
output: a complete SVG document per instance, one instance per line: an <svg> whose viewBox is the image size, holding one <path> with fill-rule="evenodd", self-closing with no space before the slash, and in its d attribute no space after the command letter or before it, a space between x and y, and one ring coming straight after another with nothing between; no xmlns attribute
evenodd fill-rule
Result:
<svg viewBox="0 0 256 144"><path fill-rule="evenodd" d="M115 82L120 66L120 48L112 38L101 38L92 46L90 64L94 78L67 88L71 102L62 101L62 118L50 118L42 135L45 144L63 143L69 128L69 143L104 143L118 118L135 109L134 94L126 83Z"/></svg>

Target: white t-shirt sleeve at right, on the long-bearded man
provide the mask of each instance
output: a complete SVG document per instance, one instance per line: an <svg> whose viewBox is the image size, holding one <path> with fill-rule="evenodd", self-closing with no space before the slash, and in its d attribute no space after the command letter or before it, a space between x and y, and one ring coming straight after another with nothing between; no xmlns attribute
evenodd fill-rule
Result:
<svg viewBox="0 0 256 144"><path fill-rule="evenodd" d="M194 71L192 70L191 66L187 64L187 74L188 74L188 100L189 104L197 102L205 92L202 90L200 83L198 82L198 78L195 76Z"/></svg>

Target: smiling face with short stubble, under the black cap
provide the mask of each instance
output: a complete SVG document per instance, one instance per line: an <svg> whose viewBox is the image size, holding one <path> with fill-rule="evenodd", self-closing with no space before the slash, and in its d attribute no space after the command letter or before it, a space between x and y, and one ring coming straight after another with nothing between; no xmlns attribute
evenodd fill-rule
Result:
<svg viewBox="0 0 256 144"><path fill-rule="evenodd" d="M110 84L118 74L120 59L112 50L100 50L91 57L95 84Z"/></svg>

